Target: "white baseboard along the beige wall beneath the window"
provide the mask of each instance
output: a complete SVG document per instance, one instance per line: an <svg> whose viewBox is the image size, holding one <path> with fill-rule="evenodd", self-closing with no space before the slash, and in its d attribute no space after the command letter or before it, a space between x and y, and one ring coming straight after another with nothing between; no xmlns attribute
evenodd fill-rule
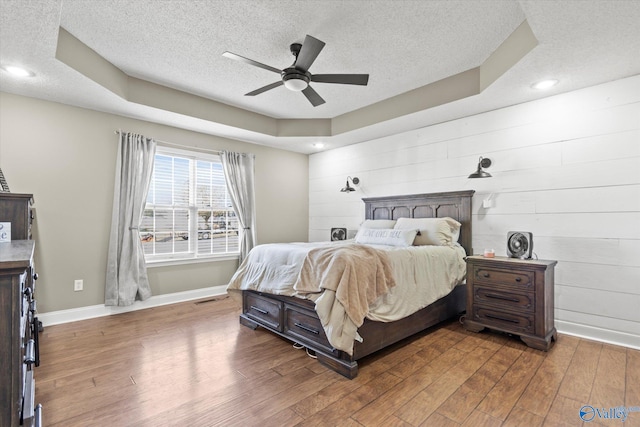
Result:
<svg viewBox="0 0 640 427"><path fill-rule="evenodd" d="M224 285L212 286L209 288L194 289L192 291L157 295L152 296L145 301L136 301L132 305L126 307L114 307L99 304L87 307L71 308L69 310L52 311L49 313L38 313L38 320L42 322L43 326L77 322L78 320L93 319L95 317L110 316L112 314L143 310L145 308L159 307L161 305L225 295L227 293L226 288L227 287Z"/></svg>

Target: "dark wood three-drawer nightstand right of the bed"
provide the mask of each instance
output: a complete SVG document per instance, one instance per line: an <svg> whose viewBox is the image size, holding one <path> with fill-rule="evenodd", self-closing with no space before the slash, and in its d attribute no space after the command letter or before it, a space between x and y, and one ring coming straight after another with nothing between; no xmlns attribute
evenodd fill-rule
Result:
<svg viewBox="0 0 640 427"><path fill-rule="evenodd" d="M519 335L529 347L549 350L557 339L553 313L557 261L467 257L464 327Z"/></svg>

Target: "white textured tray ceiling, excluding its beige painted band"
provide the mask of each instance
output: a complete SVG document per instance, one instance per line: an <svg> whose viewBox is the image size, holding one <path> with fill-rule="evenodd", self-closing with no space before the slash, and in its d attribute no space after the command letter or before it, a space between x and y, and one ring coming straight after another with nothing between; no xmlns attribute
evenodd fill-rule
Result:
<svg viewBox="0 0 640 427"><path fill-rule="evenodd" d="M216 108L274 123L332 123L479 67L523 21L537 46L480 94L318 137L283 137L131 102L56 59L62 27L126 75ZM315 141L331 149L639 74L638 22L637 0L0 0L0 64L36 74L17 79L2 70L0 90L312 153ZM326 43L312 73L368 73L368 86L314 83L326 100L319 107L284 87L245 97L278 75L222 53L285 68L293 62L289 45L306 34ZM530 87L543 78L560 83L547 92Z"/></svg>

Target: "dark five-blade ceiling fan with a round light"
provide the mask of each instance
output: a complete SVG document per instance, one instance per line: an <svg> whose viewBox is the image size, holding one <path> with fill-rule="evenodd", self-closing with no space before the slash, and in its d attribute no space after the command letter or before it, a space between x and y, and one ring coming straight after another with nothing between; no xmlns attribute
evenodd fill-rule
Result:
<svg viewBox="0 0 640 427"><path fill-rule="evenodd" d="M317 107L318 105L324 104L325 100L322 99L320 95L318 95L318 92L316 92L311 86L309 86L310 82L337 83L343 85L361 86L366 86L369 82L368 74L311 74L309 72L309 67L311 67L313 61L316 60L324 45L324 42L311 37L310 35L307 35L305 37L303 44L293 43L289 48L291 49L291 53L293 54L293 56L295 56L296 59L290 67L287 67L283 70L279 70L278 68L262 64L260 62L254 61L253 59L245 58L244 56L236 55L235 53L231 52L224 52L222 56L235 59L237 61L242 61L247 64L251 64L256 67L260 67L265 70L273 71L274 73L280 74L279 81L249 92L245 94L245 96L259 95L263 92L284 85L284 87L289 90L295 92L302 91L309 102L311 102L314 107Z"/></svg>

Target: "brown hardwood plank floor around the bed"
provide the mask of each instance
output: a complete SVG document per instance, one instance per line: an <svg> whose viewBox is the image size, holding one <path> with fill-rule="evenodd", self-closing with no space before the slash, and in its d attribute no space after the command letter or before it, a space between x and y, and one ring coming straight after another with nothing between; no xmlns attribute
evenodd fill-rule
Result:
<svg viewBox="0 0 640 427"><path fill-rule="evenodd" d="M354 380L239 325L230 299L46 327L46 426L576 426L640 409L640 351L560 335L548 353L457 321L360 363ZM623 424L640 426L640 412Z"/></svg>

